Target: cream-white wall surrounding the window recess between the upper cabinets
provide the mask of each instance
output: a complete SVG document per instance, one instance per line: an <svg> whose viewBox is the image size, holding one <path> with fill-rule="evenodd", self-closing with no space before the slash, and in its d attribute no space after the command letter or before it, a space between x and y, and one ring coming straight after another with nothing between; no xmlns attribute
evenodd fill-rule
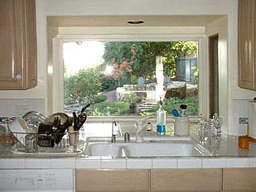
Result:
<svg viewBox="0 0 256 192"><path fill-rule="evenodd" d="M255 92L241 90L237 83L237 0L36 0L38 38L38 86L27 91L1 91L0 98L47 98L46 17L53 15L227 15L228 126L232 133L232 100L252 98Z"/></svg>

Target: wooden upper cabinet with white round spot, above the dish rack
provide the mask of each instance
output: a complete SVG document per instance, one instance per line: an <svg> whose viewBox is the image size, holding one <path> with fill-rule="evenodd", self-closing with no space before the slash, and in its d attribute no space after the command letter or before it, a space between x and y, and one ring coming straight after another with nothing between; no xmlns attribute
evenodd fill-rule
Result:
<svg viewBox="0 0 256 192"><path fill-rule="evenodd" d="M0 25L0 90L34 88L37 83L35 0L1 0Z"/></svg>

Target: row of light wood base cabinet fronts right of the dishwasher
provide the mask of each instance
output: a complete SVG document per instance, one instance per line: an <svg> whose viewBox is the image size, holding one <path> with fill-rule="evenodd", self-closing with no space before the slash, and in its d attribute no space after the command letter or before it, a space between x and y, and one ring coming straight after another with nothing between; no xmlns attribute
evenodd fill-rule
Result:
<svg viewBox="0 0 256 192"><path fill-rule="evenodd" d="M84 191L256 191L256 168L76 170Z"/></svg>

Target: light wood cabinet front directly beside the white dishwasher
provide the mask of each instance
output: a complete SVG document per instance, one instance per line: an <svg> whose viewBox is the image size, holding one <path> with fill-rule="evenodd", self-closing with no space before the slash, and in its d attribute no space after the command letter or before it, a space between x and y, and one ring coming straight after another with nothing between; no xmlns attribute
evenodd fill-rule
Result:
<svg viewBox="0 0 256 192"><path fill-rule="evenodd" d="M149 191L150 170L76 170L77 191Z"/></svg>

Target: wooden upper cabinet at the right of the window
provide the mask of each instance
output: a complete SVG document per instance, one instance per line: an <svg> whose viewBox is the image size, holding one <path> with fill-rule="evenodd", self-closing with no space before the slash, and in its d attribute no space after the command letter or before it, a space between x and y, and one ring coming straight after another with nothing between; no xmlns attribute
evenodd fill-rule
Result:
<svg viewBox="0 0 256 192"><path fill-rule="evenodd" d="M238 1L238 86L256 90L256 3Z"/></svg>

